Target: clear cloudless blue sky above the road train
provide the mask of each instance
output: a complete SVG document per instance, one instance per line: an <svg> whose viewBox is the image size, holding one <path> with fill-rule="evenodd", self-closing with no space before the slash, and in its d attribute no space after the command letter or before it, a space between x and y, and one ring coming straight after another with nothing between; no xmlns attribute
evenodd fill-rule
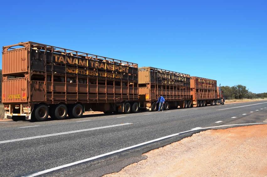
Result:
<svg viewBox="0 0 267 177"><path fill-rule="evenodd" d="M267 92L264 0L3 1L1 7L0 46L35 41Z"/></svg>

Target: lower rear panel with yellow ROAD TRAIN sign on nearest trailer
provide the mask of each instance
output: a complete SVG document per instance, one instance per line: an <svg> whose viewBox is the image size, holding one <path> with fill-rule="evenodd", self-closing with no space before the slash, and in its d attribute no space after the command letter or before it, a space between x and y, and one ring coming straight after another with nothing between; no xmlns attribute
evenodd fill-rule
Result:
<svg viewBox="0 0 267 177"><path fill-rule="evenodd" d="M28 81L26 78L8 79L3 77L2 103L19 103L28 101Z"/></svg>

